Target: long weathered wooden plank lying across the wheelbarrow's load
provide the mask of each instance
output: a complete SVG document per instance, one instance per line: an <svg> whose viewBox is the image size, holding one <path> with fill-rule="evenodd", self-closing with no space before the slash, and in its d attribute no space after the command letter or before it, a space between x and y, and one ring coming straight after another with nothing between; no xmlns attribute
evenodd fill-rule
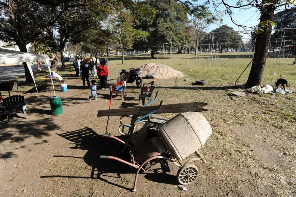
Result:
<svg viewBox="0 0 296 197"><path fill-rule="evenodd" d="M207 109L201 108L208 105L203 102L191 102L191 103L180 103L163 105L154 114L159 113L182 113L182 112L201 112L208 111ZM124 109L110 109L110 110L98 110L98 117L101 116L124 116L124 115L145 115L157 110L159 106L147 106L147 107L131 107Z"/></svg>

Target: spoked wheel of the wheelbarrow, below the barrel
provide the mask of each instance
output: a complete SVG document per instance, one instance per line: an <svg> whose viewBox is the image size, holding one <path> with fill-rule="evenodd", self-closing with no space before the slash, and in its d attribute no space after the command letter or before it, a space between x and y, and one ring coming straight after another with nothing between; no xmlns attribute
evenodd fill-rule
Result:
<svg viewBox="0 0 296 197"><path fill-rule="evenodd" d="M177 180L182 185L193 183L198 176L198 169L193 164L186 164L182 166L177 172Z"/></svg>

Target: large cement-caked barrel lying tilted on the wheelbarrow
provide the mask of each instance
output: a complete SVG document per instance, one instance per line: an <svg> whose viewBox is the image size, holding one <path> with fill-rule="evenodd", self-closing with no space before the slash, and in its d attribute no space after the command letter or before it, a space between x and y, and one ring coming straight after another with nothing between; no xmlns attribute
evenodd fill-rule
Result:
<svg viewBox="0 0 296 197"><path fill-rule="evenodd" d="M200 149L212 133L201 113L179 113L159 126L159 135L173 157L182 161Z"/></svg>

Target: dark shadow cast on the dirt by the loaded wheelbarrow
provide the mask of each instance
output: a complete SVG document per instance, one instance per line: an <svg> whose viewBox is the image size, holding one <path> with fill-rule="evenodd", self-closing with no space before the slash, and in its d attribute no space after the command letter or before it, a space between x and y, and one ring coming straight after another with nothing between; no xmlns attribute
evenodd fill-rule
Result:
<svg viewBox="0 0 296 197"><path fill-rule="evenodd" d="M41 176L40 178L83 178L83 179L99 179L108 184L112 184L119 188L123 188L126 190L131 190L131 188L124 187L122 184L114 183L114 181L109 181L111 178L118 178L121 180L121 174L135 174L136 169L130 168L128 165L115 161L113 159L99 159L99 155L110 155L115 156L125 161L130 161L131 156L128 151L121 153L121 149L123 144L118 141L114 141L109 138L106 139L100 135L98 135L95 131L93 131L89 127L84 127L79 130L65 132L62 134L57 134L71 142L73 142L73 146L69 147L71 149L83 149L88 150L83 157L76 156L53 156L53 157L67 157L67 158L78 158L83 159L84 162L91 167L91 172L89 176L67 176L67 175L46 175ZM127 141L126 136L116 136L123 141ZM72 143L71 143L72 144ZM151 172L151 171L150 171ZM162 183L167 184L177 184L176 181L172 181L172 175L161 175L155 173L145 172L147 179L159 182L158 178ZM156 172L154 170L154 172ZM63 172L61 172L63 174ZM157 178L158 177L158 178ZM175 176L174 176L175 177ZM175 180L175 178L174 178Z"/></svg>

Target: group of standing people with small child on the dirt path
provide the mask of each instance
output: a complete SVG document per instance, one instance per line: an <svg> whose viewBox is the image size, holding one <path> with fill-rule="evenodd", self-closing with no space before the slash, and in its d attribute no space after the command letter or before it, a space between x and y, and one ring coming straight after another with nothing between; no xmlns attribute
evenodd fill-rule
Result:
<svg viewBox="0 0 296 197"><path fill-rule="evenodd" d="M101 84L101 89L106 90L107 88L107 79L109 75L108 70L108 59L107 56L103 56L103 60L99 61L99 56L91 57L89 60L86 58L80 59L80 57L76 57L73 62L73 66L75 68L76 77L82 77L82 85L85 87L85 81L87 82L88 88L91 88L91 93L97 90L97 88L93 87L96 86L96 80L92 80L92 86L89 83L88 77L89 75L98 76ZM91 73L89 73L89 71ZM93 98L96 99L96 96L93 95Z"/></svg>

